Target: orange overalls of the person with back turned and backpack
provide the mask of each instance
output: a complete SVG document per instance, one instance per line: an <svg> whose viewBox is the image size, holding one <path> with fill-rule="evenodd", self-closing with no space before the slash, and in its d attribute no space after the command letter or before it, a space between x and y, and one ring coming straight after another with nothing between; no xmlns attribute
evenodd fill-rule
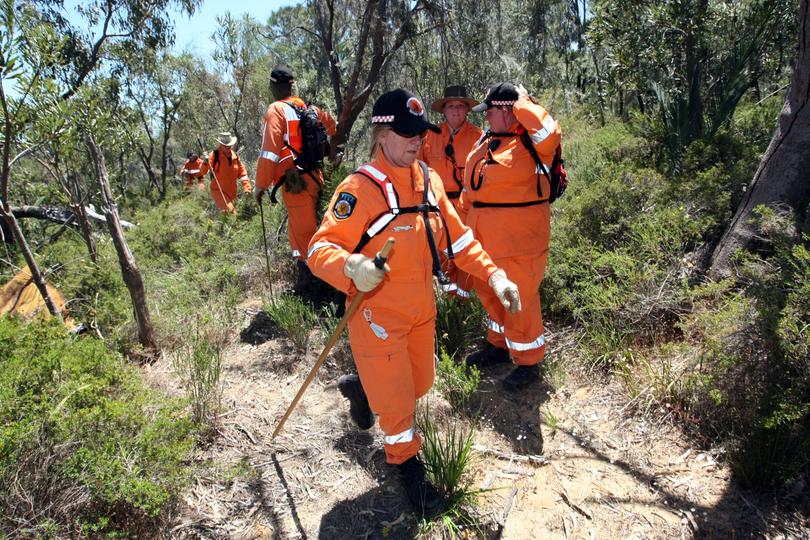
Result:
<svg viewBox="0 0 810 540"><path fill-rule="evenodd" d="M256 187L260 189L268 189L278 184L287 169L295 166L293 163L295 153L300 152L303 147L298 114L285 102L306 107L301 98L292 96L271 103L267 108L264 114L262 150L256 169ZM333 136L336 123L332 115L318 109L318 118L326 128L326 133L330 137ZM282 197L287 206L287 236L290 240L290 249L293 257L303 261L306 260L309 241L318 228L316 207L323 185L323 173L316 169L301 174L306 181L306 189L301 193L289 193L285 186Z"/></svg>

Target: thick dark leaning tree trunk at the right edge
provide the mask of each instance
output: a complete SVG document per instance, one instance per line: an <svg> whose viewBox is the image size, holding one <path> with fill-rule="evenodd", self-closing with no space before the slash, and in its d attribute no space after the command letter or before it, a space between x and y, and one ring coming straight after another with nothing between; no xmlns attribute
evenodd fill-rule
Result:
<svg viewBox="0 0 810 540"><path fill-rule="evenodd" d="M729 258L738 249L752 246L757 238L749 223L757 205L790 206L798 223L808 219L810 203L810 0L799 8L799 53L785 104L771 144L762 157L745 197L712 255L709 275L730 274Z"/></svg>

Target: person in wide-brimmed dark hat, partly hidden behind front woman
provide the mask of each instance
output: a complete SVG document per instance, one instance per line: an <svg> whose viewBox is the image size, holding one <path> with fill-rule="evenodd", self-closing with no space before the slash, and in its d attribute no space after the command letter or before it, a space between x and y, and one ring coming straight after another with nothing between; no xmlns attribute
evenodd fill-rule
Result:
<svg viewBox="0 0 810 540"><path fill-rule="evenodd" d="M434 101L430 108L442 113L446 121L439 124L441 132L429 132L422 145L420 158L439 174L444 191L456 210L463 187L467 155L481 138L481 128L467 122L470 107L477 104L478 101L467 97L464 86L445 88L444 97ZM445 260L442 266L449 278L449 283L442 284L442 289L461 298L468 298L472 286L469 276L459 272L450 261Z"/></svg>

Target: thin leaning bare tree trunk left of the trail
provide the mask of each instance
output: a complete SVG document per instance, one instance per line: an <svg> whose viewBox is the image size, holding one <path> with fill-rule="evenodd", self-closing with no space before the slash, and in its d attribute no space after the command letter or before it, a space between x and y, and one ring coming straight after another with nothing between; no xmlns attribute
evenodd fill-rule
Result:
<svg viewBox="0 0 810 540"><path fill-rule="evenodd" d="M146 303L146 287L144 287L143 278L141 278L138 265L135 263L135 257L132 256L132 252L124 238L124 231L121 228L121 221L118 218L118 208L116 207L115 199L113 199L112 190L110 189L110 181L107 178L104 156L99 152L92 134L87 135L86 141L87 147L90 149L93 164L96 168L98 183L101 186L104 214L107 217L107 224L110 228L110 235L115 245L115 251L118 252L118 263L121 265L121 274L127 289L129 289L129 295L132 298L135 322L138 324L138 339L148 352L154 353L157 351L158 347L155 342L155 332L152 328L152 321L149 317L149 306Z"/></svg>

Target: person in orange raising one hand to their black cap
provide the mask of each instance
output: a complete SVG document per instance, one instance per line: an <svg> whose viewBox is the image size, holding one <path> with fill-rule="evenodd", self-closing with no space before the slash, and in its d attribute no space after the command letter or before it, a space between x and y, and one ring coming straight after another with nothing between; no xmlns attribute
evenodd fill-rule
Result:
<svg viewBox="0 0 810 540"><path fill-rule="evenodd" d="M522 86L491 85L483 103L473 111L486 111L490 129L467 158L461 195L465 223L506 270L520 290L523 310L503 309L486 283L475 280L475 291L489 314L486 346L467 358L474 365L509 361L517 367L504 379L508 390L523 388L539 379L545 354L540 284L546 270L551 213L549 179L538 172L521 140L526 132L539 158L550 170L560 143L560 126Z"/></svg>

